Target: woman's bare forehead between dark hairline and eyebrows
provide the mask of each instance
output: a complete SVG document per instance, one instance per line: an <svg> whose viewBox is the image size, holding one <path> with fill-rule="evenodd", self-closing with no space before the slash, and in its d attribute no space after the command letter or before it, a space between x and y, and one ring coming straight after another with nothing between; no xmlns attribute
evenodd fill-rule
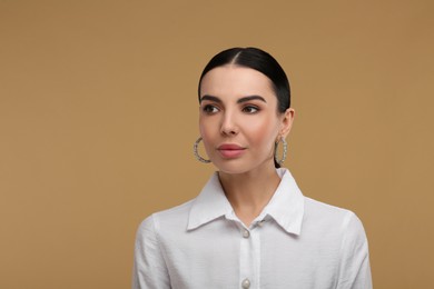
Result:
<svg viewBox="0 0 434 289"><path fill-rule="evenodd" d="M208 71L200 83L200 96L273 97L272 81L262 72L239 66L217 67Z"/></svg>

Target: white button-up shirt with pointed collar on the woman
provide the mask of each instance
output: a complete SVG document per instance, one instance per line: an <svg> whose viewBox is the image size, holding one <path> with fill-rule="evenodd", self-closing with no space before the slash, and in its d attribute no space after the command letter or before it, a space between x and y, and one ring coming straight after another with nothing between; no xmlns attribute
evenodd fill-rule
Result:
<svg viewBox="0 0 434 289"><path fill-rule="evenodd" d="M277 172L282 181L249 228L217 173L194 200L148 217L132 288L372 288L359 219L304 197L287 169Z"/></svg>

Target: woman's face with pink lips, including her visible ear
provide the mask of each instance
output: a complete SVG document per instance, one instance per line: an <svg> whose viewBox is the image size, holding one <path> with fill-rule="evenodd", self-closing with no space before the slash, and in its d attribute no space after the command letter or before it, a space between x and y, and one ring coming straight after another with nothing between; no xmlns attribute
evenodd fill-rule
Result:
<svg viewBox="0 0 434 289"><path fill-rule="evenodd" d="M274 143L287 136L293 118L293 109L277 112L272 81L259 71L228 64L201 80L200 134L221 172L274 168Z"/></svg>

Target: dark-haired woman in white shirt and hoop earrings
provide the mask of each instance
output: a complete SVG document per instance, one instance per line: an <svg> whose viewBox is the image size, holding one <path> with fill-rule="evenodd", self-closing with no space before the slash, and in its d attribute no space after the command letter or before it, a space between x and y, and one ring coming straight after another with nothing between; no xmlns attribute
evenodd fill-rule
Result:
<svg viewBox="0 0 434 289"><path fill-rule="evenodd" d="M256 48L225 50L198 93L195 155L218 172L197 198L140 225L132 288L372 288L358 218L304 197L280 168L294 109L277 61Z"/></svg>

